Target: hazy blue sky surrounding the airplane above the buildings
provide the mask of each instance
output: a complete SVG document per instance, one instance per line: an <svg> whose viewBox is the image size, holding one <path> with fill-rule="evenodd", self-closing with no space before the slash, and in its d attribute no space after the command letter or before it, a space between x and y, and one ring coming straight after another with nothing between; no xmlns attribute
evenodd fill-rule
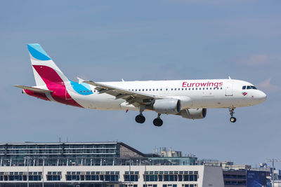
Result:
<svg viewBox="0 0 281 187"><path fill-rule="evenodd" d="M281 1L1 1L0 141L124 141L256 165L280 158ZM204 120L95 111L22 95L34 85L27 43L64 74L93 81L231 78L266 92L263 104L209 109ZM281 167L281 165L278 165Z"/></svg>

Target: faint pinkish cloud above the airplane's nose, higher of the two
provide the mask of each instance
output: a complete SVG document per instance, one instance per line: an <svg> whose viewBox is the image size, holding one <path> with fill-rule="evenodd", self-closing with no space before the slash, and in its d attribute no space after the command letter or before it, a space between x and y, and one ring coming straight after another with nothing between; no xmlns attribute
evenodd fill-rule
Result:
<svg viewBox="0 0 281 187"><path fill-rule="evenodd" d="M247 66L265 66L274 64L274 61L271 60L268 55L251 55L249 58L241 60L239 63Z"/></svg>

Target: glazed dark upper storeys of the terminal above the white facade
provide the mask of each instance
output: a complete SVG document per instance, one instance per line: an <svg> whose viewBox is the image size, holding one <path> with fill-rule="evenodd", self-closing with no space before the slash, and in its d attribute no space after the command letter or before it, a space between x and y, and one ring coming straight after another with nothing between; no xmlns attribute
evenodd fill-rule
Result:
<svg viewBox="0 0 281 187"><path fill-rule="evenodd" d="M0 144L0 166L195 165L196 162L195 157L147 157L122 142Z"/></svg>

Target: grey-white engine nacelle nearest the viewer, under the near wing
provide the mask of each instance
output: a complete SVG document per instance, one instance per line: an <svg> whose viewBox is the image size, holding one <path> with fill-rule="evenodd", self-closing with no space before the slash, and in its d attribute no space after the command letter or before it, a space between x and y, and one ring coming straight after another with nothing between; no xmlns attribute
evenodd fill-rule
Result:
<svg viewBox="0 0 281 187"><path fill-rule="evenodd" d="M181 111L181 101L178 99L156 99L153 109L157 113L176 114Z"/></svg>

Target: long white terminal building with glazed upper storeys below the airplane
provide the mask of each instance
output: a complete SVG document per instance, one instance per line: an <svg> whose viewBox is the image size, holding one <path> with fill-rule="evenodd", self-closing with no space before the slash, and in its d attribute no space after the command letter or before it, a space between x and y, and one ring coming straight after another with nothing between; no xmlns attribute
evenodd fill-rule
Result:
<svg viewBox="0 0 281 187"><path fill-rule="evenodd" d="M224 186L222 167L197 163L193 155L145 154L122 142L3 143L0 187Z"/></svg>

